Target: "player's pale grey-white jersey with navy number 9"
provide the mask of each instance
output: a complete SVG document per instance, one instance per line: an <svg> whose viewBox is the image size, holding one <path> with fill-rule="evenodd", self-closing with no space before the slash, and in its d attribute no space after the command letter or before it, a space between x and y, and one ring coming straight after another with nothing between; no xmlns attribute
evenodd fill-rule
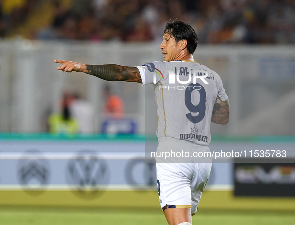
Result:
<svg viewBox="0 0 295 225"><path fill-rule="evenodd" d="M143 85L154 85L158 112L157 136L208 146L213 106L228 99L220 76L202 64L188 61L157 61L137 68ZM170 73L165 69L170 69ZM207 71L208 76L196 78L194 83L196 70ZM174 72L175 83L171 82L171 71ZM184 84L188 80L191 81Z"/></svg>

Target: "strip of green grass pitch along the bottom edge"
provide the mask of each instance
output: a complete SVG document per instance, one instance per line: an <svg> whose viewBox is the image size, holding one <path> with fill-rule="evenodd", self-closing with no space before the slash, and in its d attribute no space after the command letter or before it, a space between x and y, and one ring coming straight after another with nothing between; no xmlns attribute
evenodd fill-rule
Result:
<svg viewBox="0 0 295 225"><path fill-rule="evenodd" d="M294 211L199 210L193 224L272 225L294 224ZM122 208L1 207L0 225L167 224L161 210Z"/></svg>

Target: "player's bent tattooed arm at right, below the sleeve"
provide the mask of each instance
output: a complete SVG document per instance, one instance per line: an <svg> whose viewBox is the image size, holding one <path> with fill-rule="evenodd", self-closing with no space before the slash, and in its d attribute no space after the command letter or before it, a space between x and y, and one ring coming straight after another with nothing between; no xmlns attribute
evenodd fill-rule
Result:
<svg viewBox="0 0 295 225"><path fill-rule="evenodd" d="M227 99L226 101L214 104L211 122L219 124L227 124L230 119L230 103Z"/></svg>

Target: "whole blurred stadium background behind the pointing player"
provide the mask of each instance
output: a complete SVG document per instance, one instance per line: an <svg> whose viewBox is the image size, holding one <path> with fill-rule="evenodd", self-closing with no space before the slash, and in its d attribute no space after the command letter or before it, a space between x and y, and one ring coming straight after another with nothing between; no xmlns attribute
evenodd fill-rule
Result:
<svg viewBox="0 0 295 225"><path fill-rule="evenodd" d="M230 99L210 149L294 153L294 0L0 6L0 224L166 224L144 160L146 141L157 143L153 87L61 73L53 60L161 61L174 18L196 30L194 58L219 73ZM294 161L239 162L213 164L193 223L294 224Z"/></svg>

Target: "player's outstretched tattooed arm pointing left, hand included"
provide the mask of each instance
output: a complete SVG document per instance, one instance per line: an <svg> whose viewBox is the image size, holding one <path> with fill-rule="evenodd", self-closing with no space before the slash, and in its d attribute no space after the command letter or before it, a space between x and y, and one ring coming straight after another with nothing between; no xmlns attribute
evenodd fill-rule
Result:
<svg viewBox="0 0 295 225"><path fill-rule="evenodd" d="M138 68L122 65L86 65L73 61L54 60L61 66L57 70L64 72L85 72L107 81L126 81L142 83Z"/></svg>

